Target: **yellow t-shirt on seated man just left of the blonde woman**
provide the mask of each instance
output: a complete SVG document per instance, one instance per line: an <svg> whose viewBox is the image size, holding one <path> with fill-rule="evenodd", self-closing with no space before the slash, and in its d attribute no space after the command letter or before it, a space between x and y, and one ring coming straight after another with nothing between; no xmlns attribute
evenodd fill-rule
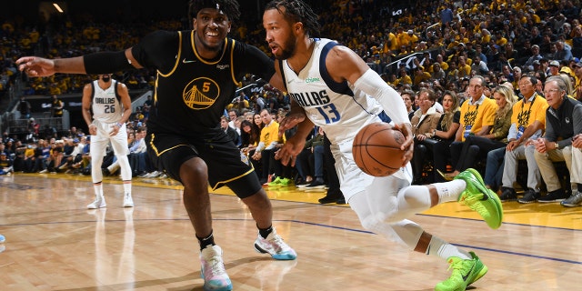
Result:
<svg viewBox="0 0 582 291"><path fill-rule="evenodd" d="M470 101L469 99L461 105L460 124L461 130L464 131L462 141L465 141L469 133L477 134L483 126L495 124L497 104L493 99L483 95L476 104L470 104Z"/></svg>

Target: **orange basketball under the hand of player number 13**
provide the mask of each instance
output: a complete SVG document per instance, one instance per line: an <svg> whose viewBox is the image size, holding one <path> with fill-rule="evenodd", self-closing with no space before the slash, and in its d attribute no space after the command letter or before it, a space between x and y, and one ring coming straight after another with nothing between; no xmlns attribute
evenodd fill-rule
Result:
<svg viewBox="0 0 582 291"><path fill-rule="evenodd" d="M402 166L404 135L392 125L378 122L364 126L352 145L356 165L370 176L390 176Z"/></svg>

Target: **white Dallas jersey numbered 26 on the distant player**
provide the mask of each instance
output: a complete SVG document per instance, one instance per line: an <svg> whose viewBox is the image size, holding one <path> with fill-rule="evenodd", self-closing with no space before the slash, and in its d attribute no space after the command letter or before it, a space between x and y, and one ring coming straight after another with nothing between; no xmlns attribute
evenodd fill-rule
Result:
<svg viewBox="0 0 582 291"><path fill-rule="evenodd" d="M121 120L123 106L117 96L117 81L112 80L111 85L105 90L99 86L99 81L93 81L92 109L93 119L105 123L116 123Z"/></svg>

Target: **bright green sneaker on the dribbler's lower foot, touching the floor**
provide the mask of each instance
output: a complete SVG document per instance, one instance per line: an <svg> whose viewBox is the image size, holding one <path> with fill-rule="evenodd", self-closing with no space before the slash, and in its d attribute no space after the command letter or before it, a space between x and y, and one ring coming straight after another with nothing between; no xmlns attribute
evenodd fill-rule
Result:
<svg viewBox="0 0 582 291"><path fill-rule="evenodd" d="M457 256L447 259L450 264L448 269L453 268L453 273L447 280L435 286L436 291L465 291L467 286L487 274L487 266L483 265L479 257L473 252L469 254L472 258L467 260Z"/></svg>

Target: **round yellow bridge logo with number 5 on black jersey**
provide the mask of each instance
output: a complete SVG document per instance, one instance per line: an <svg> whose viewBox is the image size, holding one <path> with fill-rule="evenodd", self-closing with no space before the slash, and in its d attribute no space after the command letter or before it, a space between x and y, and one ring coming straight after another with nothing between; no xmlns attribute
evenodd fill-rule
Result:
<svg viewBox="0 0 582 291"><path fill-rule="evenodd" d="M212 79L200 77L186 85L182 98L186 106L194 109L206 109L215 104L220 95L218 84Z"/></svg>

